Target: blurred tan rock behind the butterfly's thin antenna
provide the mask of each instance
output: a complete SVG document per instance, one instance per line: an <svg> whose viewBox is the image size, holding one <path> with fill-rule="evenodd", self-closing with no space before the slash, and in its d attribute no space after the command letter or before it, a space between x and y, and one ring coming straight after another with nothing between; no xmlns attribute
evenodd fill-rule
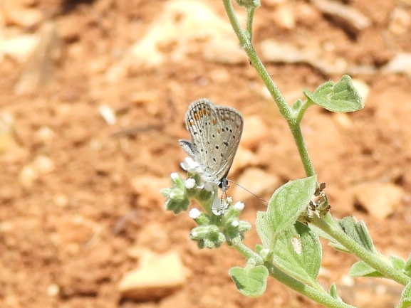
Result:
<svg viewBox="0 0 411 308"><path fill-rule="evenodd" d="M274 193L276 188L280 186L280 180L274 174L268 174L259 168L249 168L237 179L237 182L254 193L256 196L261 196L264 193ZM248 198L254 198L248 191L236 185L231 186L233 196L236 200L245 201Z"/></svg>

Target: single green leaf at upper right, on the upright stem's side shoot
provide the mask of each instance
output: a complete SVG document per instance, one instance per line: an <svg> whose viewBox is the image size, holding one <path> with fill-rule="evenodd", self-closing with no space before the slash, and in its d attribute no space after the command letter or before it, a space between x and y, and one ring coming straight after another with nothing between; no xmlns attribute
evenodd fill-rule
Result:
<svg viewBox="0 0 411 308"><path fill-rule="evenodd" d="M338 83L323 83L314 93L308 90L303 90L303 93L314 104L332 112L353 112L364 107L364 102L348 75L343 75Z"/></svg>

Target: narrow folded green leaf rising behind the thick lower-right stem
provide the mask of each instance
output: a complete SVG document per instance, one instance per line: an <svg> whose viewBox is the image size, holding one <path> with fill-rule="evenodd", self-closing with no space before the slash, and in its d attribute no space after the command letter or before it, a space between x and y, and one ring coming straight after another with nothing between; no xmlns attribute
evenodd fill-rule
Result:
<svg viewBox="0 0 411 308"><path fill-rule="evenodd" d="M355 243L361 245L370 253L378 253L364 221L357 221L354 217L345 217L338 221L338 223L344 233L355 240Z"/></svg>

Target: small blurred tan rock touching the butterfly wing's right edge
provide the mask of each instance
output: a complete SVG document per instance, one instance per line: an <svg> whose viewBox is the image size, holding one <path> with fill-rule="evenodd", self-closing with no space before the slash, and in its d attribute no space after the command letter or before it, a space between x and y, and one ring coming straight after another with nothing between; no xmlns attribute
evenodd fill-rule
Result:
<svg viewBox="0 0 411 308"><path fill-rule="evenodd" d="M269 128L260 117L251 116L244 119L244 130L241 137L241 147L256 149L269 134Z"/></svg>

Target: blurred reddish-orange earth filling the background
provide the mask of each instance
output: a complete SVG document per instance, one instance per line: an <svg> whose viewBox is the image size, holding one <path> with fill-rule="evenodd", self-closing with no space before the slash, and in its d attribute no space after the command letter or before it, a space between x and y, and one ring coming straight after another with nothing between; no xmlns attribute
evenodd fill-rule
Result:
<svg viewBox="0 0 411 308"><path fill-rule="evenodd" d="M254 160L234 168L231 179L239 181L250 166L257 167L278 181L261 196L269 198L279 185L304 176L291 134L247 61L209 60L201 40L190 43L200 47L191 48L189 57L167 58L175 48L168 42L159 47L166 55L164 64L137 65L110 80L111 69L122 63L169 1L21 0L17 9L6 6L13 1L2 1L2 35L40 33L46 21L53 21L60 54L52 64L32 60L44 65L41 71L52 65L53 73L47 75L51 80L22 94L14 87L28 64L8 55L0 62L0 112L14 119L14 132L1 132L1 307L320 307L274 280L263 296L243 297L227 271L244 260L227 247L199 250L188 239L194 223L187 213L174 216L162 208L160 188L170 185L170 173L180 172L184 158L177 142L188 137L184 112L199 97L236 107L246 122L256 116L266 124L268 134L252 148ZM355 33L322 14L313 2L261 2L255 23L257 50L269 38L296 48L322 46L321 58L328 63L338 58L348 68L373 68L369 74L353 74L370 90L364 110L339 117L312 107L303 132L318 179L327 184L333 216L363 219L382 253L407 258L411 80L406 73L383 73L381 68L397 53L411 52L410 1L375 0L371 6L367 0L344 1L371 21ZM205 4L225 20L220 1ZM18 9L23 11L10 17ZM42 19L24 24L27 10ZM287 23L290 20L295 23ZM325 72L306 61L266 64L290 101L302 97L303 88L314 90L344 73ZM115 110L115 124L103 120L100 105ZM131 132L112 135L131 127ZM355 198L358 184L369 182L393 184L402 191L390 215L371 215ZM256 210L265 205L252 197L244 201L243 217L254 223ZM257 240L254 231L246 237L253 247ZM137 264L129 254L135 247L155 253L175 250L192 275L163 299L122 299L117 285ZM325 245L321 283L328 287L337 282L352 304L385 305L383 299L375 303L381 280L347 287L353 262L355 258ZM395 284L387 290L397 296ZM380 307L393 307L395 296Z"/></svg>

